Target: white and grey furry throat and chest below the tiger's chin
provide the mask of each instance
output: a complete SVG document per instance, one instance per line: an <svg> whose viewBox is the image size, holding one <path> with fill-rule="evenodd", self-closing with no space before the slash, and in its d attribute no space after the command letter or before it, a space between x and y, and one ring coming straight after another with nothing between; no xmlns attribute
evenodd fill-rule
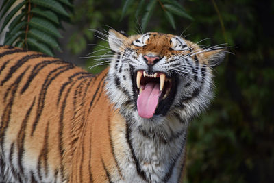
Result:
<svg viewBox="0 0 274 183"><path fill-rule="evenodd" d="M147 182L178 182L184 168L187 127L176 130L162 127L141 127L134 119L126 122L127 145L136 164L138 175ZM142 123L144 121L141 121ZM164 123L176 123L169 119Z"/></svg>

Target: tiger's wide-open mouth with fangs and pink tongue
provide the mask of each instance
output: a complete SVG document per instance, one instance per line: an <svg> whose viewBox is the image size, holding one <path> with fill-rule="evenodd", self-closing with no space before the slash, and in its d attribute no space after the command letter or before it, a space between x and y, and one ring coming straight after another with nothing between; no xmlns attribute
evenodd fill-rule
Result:
<svg viewBox="0 0 274 183"><path fill-rule="evenodd" d="M133 79L139 116L151 118L153 115L165 115L175 96L176 77L141 70L134 73Z"/></svg>

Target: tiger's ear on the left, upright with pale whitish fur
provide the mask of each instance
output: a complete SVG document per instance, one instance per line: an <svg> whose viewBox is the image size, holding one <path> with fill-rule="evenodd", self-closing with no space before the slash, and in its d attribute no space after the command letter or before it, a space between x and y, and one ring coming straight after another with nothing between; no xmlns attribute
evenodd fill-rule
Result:
<svg viewBox="0 0 274 183"><path fill-rule="evenodd" d="M120 48L124 45L124 42L126 40L126 36L119 32L116 32L114 29L110 29L108 31L108 44L113 51L120 52Z"/></svg>

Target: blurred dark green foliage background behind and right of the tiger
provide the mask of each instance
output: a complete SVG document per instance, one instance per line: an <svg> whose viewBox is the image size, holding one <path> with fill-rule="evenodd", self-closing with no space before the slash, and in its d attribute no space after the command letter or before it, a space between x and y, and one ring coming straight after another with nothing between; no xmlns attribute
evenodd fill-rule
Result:
<svg viewBox="0 0 274 183"><path fill-rule="evenodd" d="M88 28L141 32L146 10L138 12L140 17L136 18L140 2L132 2L126 11L125 1L76 4L73 21L81 26L73 33L69 48L81 53L91 42L107 45ZM227 55L214 71L216 95L210 109L190 123L185 182L274 182L274 2L177 2L193 20L174 16L174 30L156 3L147 30L177 35L184 32L182 36L193 42L210 37L200 42L201 46L227 43L236 47L229 49L234 54ZM92 65L92 58L87 65Z"/></svg>

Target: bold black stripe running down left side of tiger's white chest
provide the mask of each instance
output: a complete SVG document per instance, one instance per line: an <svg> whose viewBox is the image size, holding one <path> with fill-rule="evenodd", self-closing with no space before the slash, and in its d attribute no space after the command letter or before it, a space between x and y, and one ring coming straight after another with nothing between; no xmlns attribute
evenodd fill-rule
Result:
<svg viewBox="0 0 274 183"><path fill-rule="evenodd" d="M129 128L129 121L126 121L125 123L126 125L126 138L127 138L127 144L129 145L129 149L132 153L132 159L134 159L135 161L135 164L136 164L136 170L137 170L137 173L138 175L140 175L140 177L143 179L143 180L146 180L147 181L147 178L146 178L146 175L145 175L145 172L142 171L142 169L140 168L140 163L139 161L137 160L136 158L136 155L134 153L134 149L132 147L132 140L130 138L130 135L132 134L132 130Z"/></svg>

